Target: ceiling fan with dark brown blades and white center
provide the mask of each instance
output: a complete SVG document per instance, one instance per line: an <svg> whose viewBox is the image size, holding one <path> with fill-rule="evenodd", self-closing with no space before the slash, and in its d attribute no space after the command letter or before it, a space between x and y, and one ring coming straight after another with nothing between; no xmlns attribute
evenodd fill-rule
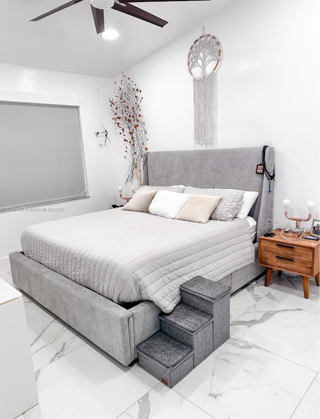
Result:
<svg viewBox="0 0 320 419"><path fill-rule="evenodd" d="M52 10L47 11L46 13L40 14L37 17L29 20L30 22L43 19L43 17L49 16L59 10L62 10L66 7L72 6L75 3L79 3L83 0L71 0L67 3L61 4L58 7L53 8ZM103 10L107 8L113 8L114 10L121 11L122 13L129 14L130 16L137 17L138 19L145 20L146 22L153 23L157 26L163 27L166 23L166 20L160 19L160 17L154 16L154 14L148 13L145 10L140 9L139 7L132 6L130 3L140 3L145 1L185 1L185 0L90 0L91 10L95 23L96 33L101 33L104 31L104 15ZM193 0L194 1L194 0ZM198 0L196 0L198 1ZM202 1L202 0L200 0Z"/></svg>

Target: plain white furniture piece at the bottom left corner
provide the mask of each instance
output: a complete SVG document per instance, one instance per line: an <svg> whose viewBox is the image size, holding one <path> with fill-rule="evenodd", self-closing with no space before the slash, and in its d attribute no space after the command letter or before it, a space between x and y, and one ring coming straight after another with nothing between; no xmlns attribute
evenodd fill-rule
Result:
<svg viewBox="0 0 320 419"><path fill-rule="evenodd" d="M38 402L22 294L0 278L0 418Z"/></svg>

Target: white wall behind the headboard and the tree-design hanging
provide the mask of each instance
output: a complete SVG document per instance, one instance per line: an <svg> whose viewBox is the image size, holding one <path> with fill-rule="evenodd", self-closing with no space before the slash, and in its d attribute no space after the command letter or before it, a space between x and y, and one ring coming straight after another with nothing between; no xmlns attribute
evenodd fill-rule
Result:
<svg viewBox="0 0 320 419"><path fill-rule="evenodd" d="M319 218L318 20L318 1L240 0L203 22L223 46L218 147L275 147L273 218L285 226L284 198L289 214L303 217L306 201L316 201ZM125 71L143 92L150 151L193 148L186 60L201 33L202 25Z"/></svg>

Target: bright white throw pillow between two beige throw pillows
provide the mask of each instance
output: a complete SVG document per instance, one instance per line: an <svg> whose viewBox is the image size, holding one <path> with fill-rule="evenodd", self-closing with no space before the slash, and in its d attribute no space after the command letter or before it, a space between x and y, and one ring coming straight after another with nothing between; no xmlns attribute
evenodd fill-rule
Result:
<svg viewBox="0 0 320 419"><path fill-rule="evenodd" d="M149 212L161 217L174 218L189 198L188 193L159 190L149 206Z"/></svg>

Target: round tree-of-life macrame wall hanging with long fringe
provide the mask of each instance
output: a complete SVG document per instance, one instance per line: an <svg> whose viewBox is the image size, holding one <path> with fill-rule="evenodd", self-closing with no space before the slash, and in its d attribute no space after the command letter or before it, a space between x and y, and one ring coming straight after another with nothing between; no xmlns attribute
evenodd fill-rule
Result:
<svg viewBox="0 0 320 419"><path fill-rule="evenodd" d="M188 70L193 77L194 146L216 147L217 70L222 61L220 41L205 33L197 38L188 54Z"/></svg>

